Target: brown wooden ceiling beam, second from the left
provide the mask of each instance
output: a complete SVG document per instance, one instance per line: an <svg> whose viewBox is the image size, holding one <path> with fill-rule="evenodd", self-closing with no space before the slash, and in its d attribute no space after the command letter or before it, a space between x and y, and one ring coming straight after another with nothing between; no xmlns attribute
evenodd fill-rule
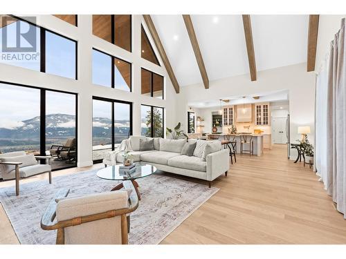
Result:
<svg viewBox="0 0 346 259"><path fill-rule="evenodd" d="M207 75L206 67L204 66L203 58L201 55L201 50L199 49L199 44L197 41L196 33L194 32L194 26L192 24L192 20L190 15L183 15L183 19L185 22L186 30L188 30L188 35L190 37L192 49L194 50L194 57L196 57L197 64L199 67L199 72L201 73L201 77L203 79L204 88L209 88L209 79Z"/></svg>

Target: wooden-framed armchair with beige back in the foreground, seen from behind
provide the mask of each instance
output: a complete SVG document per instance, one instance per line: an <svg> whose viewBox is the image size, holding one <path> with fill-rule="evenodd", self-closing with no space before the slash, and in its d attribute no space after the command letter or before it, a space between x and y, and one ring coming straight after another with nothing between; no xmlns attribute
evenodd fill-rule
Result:
<svg viewBox="0 0 346 259"><path fill-rule="evenodd" d="M56 244L127 244L127 214L137 209L138 197L131 181L123 184L126 191L71 199L64 199L68 189L60 190L42 216L41 228L57 229Z"/></svg>

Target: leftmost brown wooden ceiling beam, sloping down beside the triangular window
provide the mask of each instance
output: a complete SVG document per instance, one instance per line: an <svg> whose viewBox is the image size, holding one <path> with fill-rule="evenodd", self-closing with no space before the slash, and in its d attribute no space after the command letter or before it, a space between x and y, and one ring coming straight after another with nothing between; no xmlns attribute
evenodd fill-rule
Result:
<svg viewBox="0 0 346 259"><path fill-rule="evenodd" d="M150 17L150 15L143 15L143 18L145 20L145 23L147 24L147 28L149 29L150 35L152 35L152 38L154 40L154 44L158 50L158 54L160 54L160 56L162 58L163 64L165 65L165 68L167 70L167 73L168 73L171 81L172 81L174 89L175 89L176 93L179 93L180 88L179 88L178 81L176 80L176 77L174 75L170 61L168 60L165 49L163 48L163 45L161 43L160 37L158 37L158 33L157 33L156 28L154 26L154 23L152 21L152 17Z"/></svg>

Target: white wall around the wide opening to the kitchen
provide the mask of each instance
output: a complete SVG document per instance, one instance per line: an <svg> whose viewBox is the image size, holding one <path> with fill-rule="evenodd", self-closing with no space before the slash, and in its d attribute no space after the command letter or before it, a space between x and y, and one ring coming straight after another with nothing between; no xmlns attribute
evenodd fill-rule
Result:
<svg viewBox="0 0 346 259"><path fill-rule="evenodd" d="M188 102L208 102L225 96L249 96L289 90L289 113L291 115L291 142L300 138L298 126L311 127L311 141L314 135L315 74L307 73L307 64L284 66L257 72L257 81L249 75L239 75L210 81L210 88L203 84L184 86L177 95L177 119L185 122ZM207 124L207 122L206 122ZM186 128L186 123L183 127ZM207 130L207 128L206 128ZM293 151L292 158L295 156Z"/></svg>

